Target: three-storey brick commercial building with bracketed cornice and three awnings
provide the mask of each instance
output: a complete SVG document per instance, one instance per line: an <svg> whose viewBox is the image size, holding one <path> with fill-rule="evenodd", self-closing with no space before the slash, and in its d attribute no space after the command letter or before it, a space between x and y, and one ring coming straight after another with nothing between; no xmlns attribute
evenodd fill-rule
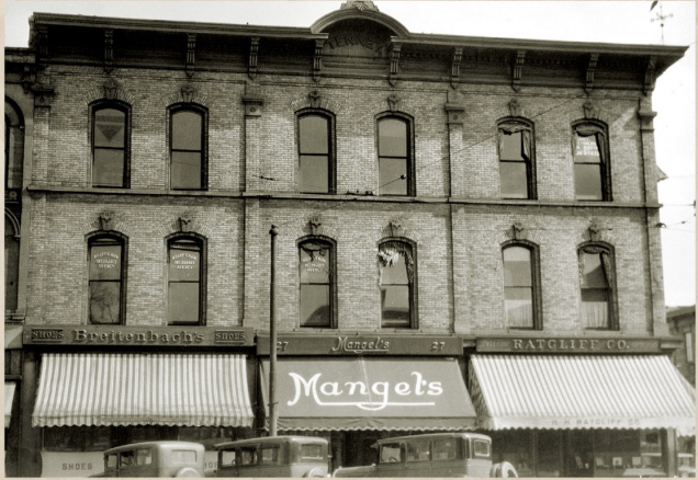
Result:
<svg viewBox="0 0 698 480"><path fill-rule="evenodd" d="M214 469L269 426L272 310L279 431L333 468L473 430L520 476L676 475L652 90L685 50L415 34L370 1L35 13L5 50L8 475L172 438Z"/></svg>

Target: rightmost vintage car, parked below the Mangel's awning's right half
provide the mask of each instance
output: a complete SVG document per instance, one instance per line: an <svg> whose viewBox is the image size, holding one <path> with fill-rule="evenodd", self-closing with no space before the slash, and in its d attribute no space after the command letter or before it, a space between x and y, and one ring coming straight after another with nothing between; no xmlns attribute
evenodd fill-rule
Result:
<svg viewBox="0 0 698 480"><path fill-rule="evenodd" d="M378 441L376 462L338 468L333 477L518 477L508 461L492 464L492 438L476 433L434 433Z"/></svg>

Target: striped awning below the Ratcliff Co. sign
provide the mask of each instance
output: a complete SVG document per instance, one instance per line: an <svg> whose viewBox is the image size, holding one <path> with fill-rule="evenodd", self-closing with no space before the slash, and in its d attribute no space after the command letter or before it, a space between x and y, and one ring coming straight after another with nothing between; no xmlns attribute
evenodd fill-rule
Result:
<svg viewBox="0 0 698 480"><path fill-rule="evenodd" d="M473 355L481 427L683 428L695 404L663 355Z"/></svg>

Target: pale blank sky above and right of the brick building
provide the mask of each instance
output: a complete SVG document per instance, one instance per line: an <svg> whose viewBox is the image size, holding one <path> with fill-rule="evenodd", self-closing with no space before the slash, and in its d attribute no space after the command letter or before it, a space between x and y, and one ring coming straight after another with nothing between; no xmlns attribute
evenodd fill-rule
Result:
<svg viewBox="0 0 698 480"><path fill-rule="evenodd" d="M338 1L4 1L4 45L26 47L33 12L308 27ZM660 1L374 2L413 33L689 46L653 93L667 306L696 302L696 4ZM666 16L664 28L657 15ZM669 16L671 15L671 16ZM654 21L652 21L654 19ZM663 33L663 35L662 35Z"/></svg>

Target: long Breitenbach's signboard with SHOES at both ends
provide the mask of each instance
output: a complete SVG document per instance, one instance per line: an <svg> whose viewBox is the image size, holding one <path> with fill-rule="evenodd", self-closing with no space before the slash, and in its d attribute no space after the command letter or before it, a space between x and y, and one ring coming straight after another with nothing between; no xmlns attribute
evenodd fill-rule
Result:
<svg viewBox="0 0 698 480"><path fill-rule="evenodd" d="M72 346L250 346L252 329L211 327L80 325L24 329L25 345Z"/></svg>

